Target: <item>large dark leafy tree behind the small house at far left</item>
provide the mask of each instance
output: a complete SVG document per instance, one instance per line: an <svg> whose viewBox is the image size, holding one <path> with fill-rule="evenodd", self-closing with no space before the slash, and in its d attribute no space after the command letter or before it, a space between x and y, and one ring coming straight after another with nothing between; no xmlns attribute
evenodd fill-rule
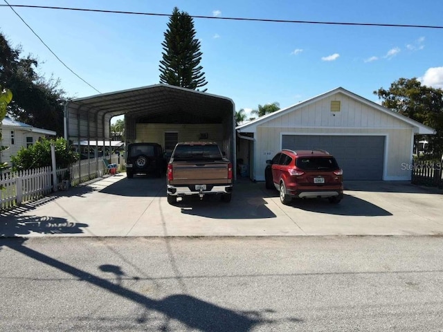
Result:
<svg viewBox="0 0 443 332"><path fill-rule="evenodd" d="M21 57L21 49L12 48L0 33L0 84L13 94L8 113L15 120L62 136L64 91L60 80L46 80L37 73L37 67L37 59Z"/></svg>

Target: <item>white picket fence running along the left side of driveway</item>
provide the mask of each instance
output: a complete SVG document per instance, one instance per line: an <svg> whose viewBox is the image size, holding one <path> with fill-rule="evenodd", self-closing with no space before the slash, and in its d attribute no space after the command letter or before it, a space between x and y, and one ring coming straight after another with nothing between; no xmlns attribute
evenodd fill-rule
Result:
<svg viewBox="0 0 443 332"><path fill-rule="evenodd" d="M111 163L118 163L118 156L111 156ZM105 174L102 158L80 160L69 168L57 169L57 183L53 184L51 167L0 174L0 210L32 201L57 190L67 190L69 185L78 185Z"/></svg>

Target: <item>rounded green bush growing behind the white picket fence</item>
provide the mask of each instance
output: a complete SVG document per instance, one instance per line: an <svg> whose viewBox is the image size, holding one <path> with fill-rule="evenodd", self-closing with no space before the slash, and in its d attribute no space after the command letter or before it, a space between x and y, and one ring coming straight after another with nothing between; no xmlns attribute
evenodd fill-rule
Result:
<svg viewBox="0 0 443 332"><path fill-rule="evenodd" d="M56 140L43 138L28 148L21 147L16 156L11 156L12 169L14 171L21 171L24 169L51 166L52 143L55 146L55 160L57 160L57 167L69 167L80 157L79 154L69 149L64 138L57 138Z"/></svg>

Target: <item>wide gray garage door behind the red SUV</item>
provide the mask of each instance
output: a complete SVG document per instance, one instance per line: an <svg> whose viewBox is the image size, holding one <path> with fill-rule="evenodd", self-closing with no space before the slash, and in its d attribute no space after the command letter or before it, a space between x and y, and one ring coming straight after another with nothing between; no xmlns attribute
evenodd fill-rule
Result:
<svg viewBox="0 0 443 332"><path fill-rule="evenodd" d="M343 169L344 180L382 180L385 136L283 135L282 149L325 149Z"/></svg>

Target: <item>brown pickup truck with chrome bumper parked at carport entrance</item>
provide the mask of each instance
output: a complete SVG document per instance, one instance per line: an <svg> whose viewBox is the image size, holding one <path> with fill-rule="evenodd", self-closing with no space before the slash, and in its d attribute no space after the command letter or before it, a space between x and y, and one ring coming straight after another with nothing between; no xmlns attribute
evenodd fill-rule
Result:
<svg viewBox="0 0 443 332"><path fill-rule="evenodd" d="M215 142L179 142L168 163L168 203L179 196L221 195L230 202L233 166Z"/></svg>

